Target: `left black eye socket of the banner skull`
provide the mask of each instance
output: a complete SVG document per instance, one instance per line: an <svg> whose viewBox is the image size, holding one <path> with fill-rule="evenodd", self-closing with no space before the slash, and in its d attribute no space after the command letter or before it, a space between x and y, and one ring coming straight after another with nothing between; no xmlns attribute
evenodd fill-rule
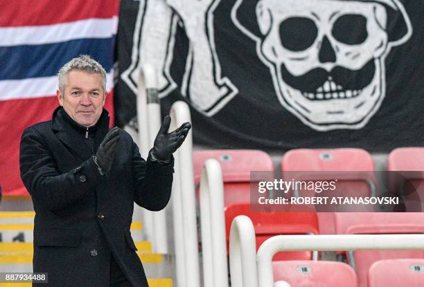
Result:
<svg viewBox="0 0 424 287"><path fill-rule="evenodd" d="M317 35L318 28L312 19L291 17L280 24L281 44L288 50L306 50L314 44Z"/></svg>

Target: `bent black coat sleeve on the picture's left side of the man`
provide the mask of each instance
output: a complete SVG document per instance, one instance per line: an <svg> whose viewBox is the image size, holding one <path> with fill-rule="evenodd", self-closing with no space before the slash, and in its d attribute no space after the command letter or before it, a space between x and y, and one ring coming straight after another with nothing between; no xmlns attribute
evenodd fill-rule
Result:
<svg viewBox="0 0 424 287"><path fill-rule="evenodd" d="M70 172L59 174L55 159L37 129L29 127L21 137L21 179L33 201L49 210L60 210L87 195L100 180L93 158Z"/></svg>

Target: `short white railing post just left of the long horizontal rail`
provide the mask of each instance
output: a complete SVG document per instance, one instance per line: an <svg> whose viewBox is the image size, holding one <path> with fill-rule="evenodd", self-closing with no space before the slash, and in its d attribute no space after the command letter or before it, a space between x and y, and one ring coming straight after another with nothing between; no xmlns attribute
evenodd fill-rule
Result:
<svg viewBox="0 0 424 287"><path fill-rule="evenodd" d="M229 257L231 287L257 287L255 230L245 215L231 223Z"/></svg>

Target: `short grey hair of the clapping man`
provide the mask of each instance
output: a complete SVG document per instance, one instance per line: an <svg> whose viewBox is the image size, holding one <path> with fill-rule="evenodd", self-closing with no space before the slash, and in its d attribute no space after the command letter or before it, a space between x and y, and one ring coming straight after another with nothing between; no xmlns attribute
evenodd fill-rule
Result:
<svg viewBox="0 0 424 287"><path fill-rule="evenodd" d="M58 72L59 89L64 92L64 85L67 82L67 75L70 71L83 71L86 73L99 73L103 78L103 89L106 92L106 71L100 63L89 55L80 55L79 57L71 59L71 61L64 64Z"/></svg>

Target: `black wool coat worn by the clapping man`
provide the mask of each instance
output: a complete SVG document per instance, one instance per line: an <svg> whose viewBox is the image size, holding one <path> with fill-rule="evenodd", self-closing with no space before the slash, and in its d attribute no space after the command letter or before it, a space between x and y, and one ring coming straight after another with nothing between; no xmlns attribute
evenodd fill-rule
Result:
<svg viewBox="0 0 424 287"><path fill-rule="evenodd" d="M130 234L134 202L154 211L167 205L173 161L143 160L121 130L111 172L102 176L92 155L108 130L106 110L87 130L59 107L22 134L21 178L35 210L33 270L48 273L48 284L33 286L109 286L112 254L132 286L148 286Z"/></svg>

